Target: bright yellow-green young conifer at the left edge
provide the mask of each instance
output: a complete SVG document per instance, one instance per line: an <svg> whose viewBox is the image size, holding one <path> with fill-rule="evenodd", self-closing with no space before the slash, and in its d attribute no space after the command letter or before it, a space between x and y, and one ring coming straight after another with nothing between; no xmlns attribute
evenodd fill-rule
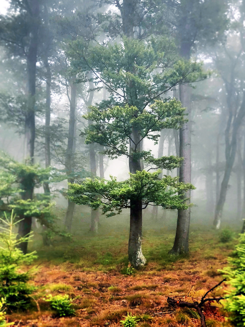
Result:
<svg viewBox="0 0 245 327"><path fill-rule="evenodd" d="M18 246L22 242L29 242L30 235L16 239L13 228L19 221L14 221L13 211L8 217L0 221L5 227L0 226L0 296L5 298L8 309L26 309L30 304L29 295L35 287L28 285L31 271L20 272L20 266L31 264L37 258L36 252L24 254Z"/></svg>

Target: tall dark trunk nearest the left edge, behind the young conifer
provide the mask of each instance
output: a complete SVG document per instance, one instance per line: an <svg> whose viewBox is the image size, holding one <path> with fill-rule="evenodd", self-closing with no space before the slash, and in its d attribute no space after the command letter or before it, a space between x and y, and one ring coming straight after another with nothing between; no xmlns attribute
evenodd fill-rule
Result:
<svg viewBox="0 0 245 327"><path fill-rule="evenodd" d="M34 145L35 145L35 95L36 95L36 65L38 52L38 30L39 30L39 0L33 0L29 4L30 14L33 25L30 33L30 44L26 51L27 63L27 113L25 117L25 138L27 142L27 152L30 156L31 163L34 163ZM34 186L28 192L22 193L23 199L32 199ZM19 223L19 236L25 236L31 231L31 217L23 216L23 220ZM20 244L20 249L27 253L27 242Z"/></svg>

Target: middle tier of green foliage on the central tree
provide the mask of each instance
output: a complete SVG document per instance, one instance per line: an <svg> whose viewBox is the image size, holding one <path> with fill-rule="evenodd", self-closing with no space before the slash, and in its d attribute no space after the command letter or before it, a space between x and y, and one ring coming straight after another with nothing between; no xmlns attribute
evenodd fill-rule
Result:
<svg viewBox="0 0 245 327"><path fill-rule="evenodd" d="M150 108L143 110L128 104L112 105L106 110L105 108L102 110L100 106L93 106L90 110L84 117L95 124L90 125L80 135L86 136L85 143L87 144L95 142L106 146L104 153L110 158L117 158L122 154L129 156L128 144L133 128L140 131L141 138L153 140L156 144L160 135L155 132L165 128L178 129L185 121L184 109L181 107L181 102L176 99L156 100ZM147 161L153 158L151 151L142 152L138 158L134 157L136 160ZM175 161L175 166L172 168L178 165L178 161Z"/></svg>

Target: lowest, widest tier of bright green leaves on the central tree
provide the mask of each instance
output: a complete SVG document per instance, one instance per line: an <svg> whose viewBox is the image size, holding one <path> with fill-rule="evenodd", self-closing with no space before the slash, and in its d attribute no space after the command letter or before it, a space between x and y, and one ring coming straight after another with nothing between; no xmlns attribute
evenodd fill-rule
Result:
<svg viewBox="0 0 245 327"><path fill-rule="evenodd" d="M93 209L101 206L107 217L120 214L123 208L130 208L132 199L141 199L145 207L150 202L155 202L163 208L187 209L180 194L194 187L178 182L177 177L164 176L160 180L158 175L159 171L149 173L143 170L130 174L128 180L121 182L112 176L110 180L87 179L81 184L69 184L67 197L77 204L85 204Z"/></svg>

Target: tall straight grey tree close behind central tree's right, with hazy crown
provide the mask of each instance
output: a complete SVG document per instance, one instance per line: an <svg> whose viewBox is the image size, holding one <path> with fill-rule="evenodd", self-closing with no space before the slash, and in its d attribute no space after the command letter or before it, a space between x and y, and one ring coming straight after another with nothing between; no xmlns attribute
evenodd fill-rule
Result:
<svg viewBox="0 0 245 327"><path fill-rule="evenodd" d="M224 1L216 0L181 0L167 1L172 10L172 24L175 26L175 37L179 44L181 57L190 59L193 46L203 46L215 43L222 36L226 27L226 5ZM212 18L213 17L213 18ZM179 155L184 157L180 166L179 180L191 182L191 104L190 88L180 84L179 96L183 107L187 108L188 121L179 131ZM190 203L190 190L183 194ZM188 210L178 210L177 228L171 253L188 253L189 251L190 207Z"/></svg>

